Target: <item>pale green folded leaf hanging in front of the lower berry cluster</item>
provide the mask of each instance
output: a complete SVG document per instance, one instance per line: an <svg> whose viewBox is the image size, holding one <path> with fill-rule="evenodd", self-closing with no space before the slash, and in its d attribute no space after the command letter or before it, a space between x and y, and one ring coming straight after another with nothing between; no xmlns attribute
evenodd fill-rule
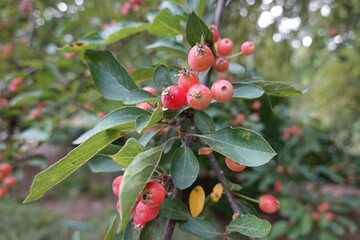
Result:
<svg viewBox="0 0 360 240"><path fill-rule="evenodd" d="M121 206L120 229L125 228L137 197L159 164L163 149L164 145L161 145L139 153L125 171L119 194Z"/></svg>

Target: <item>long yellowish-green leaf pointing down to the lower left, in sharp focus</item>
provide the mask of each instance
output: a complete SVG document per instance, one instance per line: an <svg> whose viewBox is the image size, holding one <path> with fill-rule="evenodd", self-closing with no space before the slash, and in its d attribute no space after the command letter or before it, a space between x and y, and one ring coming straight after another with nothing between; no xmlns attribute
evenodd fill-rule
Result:
<svg viewBox="0 0 360 240"><path fill-rule="evenodd" d="M30 194L26 197L24 203L41 198L46 191L64 180L118 137L119 132L117 130L111 129L99 132L72 150L64 158L38 173L31 185Z"/></svg>

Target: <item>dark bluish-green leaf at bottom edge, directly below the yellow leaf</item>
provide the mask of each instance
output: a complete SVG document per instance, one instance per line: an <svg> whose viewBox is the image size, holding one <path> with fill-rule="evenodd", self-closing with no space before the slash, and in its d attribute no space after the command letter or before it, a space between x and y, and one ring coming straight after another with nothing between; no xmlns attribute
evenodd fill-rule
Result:
<svg viewBox="0 0 360 240"><path fill-rule="evenodd" d="M186 222L181 222L179 227L181 231L191 233L199 238L207 239L221 235L210 223L200 218L189 218Z"/></svg>

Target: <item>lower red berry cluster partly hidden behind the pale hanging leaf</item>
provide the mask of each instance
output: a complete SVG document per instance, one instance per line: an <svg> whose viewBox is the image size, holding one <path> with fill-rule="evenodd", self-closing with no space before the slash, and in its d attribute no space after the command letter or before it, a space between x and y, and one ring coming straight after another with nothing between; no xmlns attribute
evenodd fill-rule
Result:
<svg viewBox="0 0 360 240"><path fill-rule="evenodd" d="M112 189L116 196L119 196L120 185L123 176L114 179ZM137 199L137 204L131 210L134 213L134 225L136 229L141 229L145 224L154 220L160 211L160 205L166 196L165 188L158 182L148 182ZM120 212L120 201L116 203L116 208Z"/></svg>

